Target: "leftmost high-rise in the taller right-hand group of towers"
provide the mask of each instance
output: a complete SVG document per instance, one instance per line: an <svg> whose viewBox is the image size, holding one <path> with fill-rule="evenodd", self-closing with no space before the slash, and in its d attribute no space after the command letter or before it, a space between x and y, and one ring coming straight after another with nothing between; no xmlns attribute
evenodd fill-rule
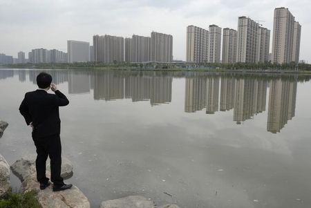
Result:
<svg viewBox="0 0 311 208"><path fill-rule="evenodd" d="M208 30L187 26L187 62L207 62L208 35Z"/></svg>

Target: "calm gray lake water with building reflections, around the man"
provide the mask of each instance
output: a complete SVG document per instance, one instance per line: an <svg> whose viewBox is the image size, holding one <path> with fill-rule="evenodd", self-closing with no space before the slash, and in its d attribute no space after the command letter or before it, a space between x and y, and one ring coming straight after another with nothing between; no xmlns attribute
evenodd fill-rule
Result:
<svg viewBox="0 0 311 208"><path fill-rule="evenodd" d="M192 207L311 207L311 83L294 75L45 70L63 155L92 207L141 195ZM18 108L40 70L0 70L0 153L34 154ZM16 178L12 183L19 186Z"/></svg>

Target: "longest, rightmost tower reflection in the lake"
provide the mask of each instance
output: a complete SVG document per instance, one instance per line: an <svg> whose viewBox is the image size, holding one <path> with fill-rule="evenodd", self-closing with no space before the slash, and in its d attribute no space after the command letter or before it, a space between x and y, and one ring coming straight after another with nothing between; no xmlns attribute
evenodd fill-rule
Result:
<svg viewBox="0 0 311 208"><path fill-rule="evenodd" d="M280 130L295 116L297 82L270 81L267 131Z"/></svg>

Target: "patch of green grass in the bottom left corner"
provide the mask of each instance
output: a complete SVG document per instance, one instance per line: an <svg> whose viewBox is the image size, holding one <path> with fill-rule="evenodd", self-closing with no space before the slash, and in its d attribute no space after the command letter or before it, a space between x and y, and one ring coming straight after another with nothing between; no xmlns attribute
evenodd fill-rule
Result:
<svg viewBox="0 0 311 208"><path fill-rule="evenodd" d="M35 191L27 193L10 192L6 198L0 200L0 208L41 208L35 194Z"/></svg>

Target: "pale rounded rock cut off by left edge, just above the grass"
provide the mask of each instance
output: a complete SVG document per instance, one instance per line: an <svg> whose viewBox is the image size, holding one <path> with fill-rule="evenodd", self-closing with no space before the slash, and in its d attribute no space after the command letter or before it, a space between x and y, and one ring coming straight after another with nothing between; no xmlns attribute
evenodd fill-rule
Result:
<svg viewBox="0 0 311 208"><path fill-rule="evenodd" d="M10 190L10 166L6 159L0 155L0 198Z"/></svg>

